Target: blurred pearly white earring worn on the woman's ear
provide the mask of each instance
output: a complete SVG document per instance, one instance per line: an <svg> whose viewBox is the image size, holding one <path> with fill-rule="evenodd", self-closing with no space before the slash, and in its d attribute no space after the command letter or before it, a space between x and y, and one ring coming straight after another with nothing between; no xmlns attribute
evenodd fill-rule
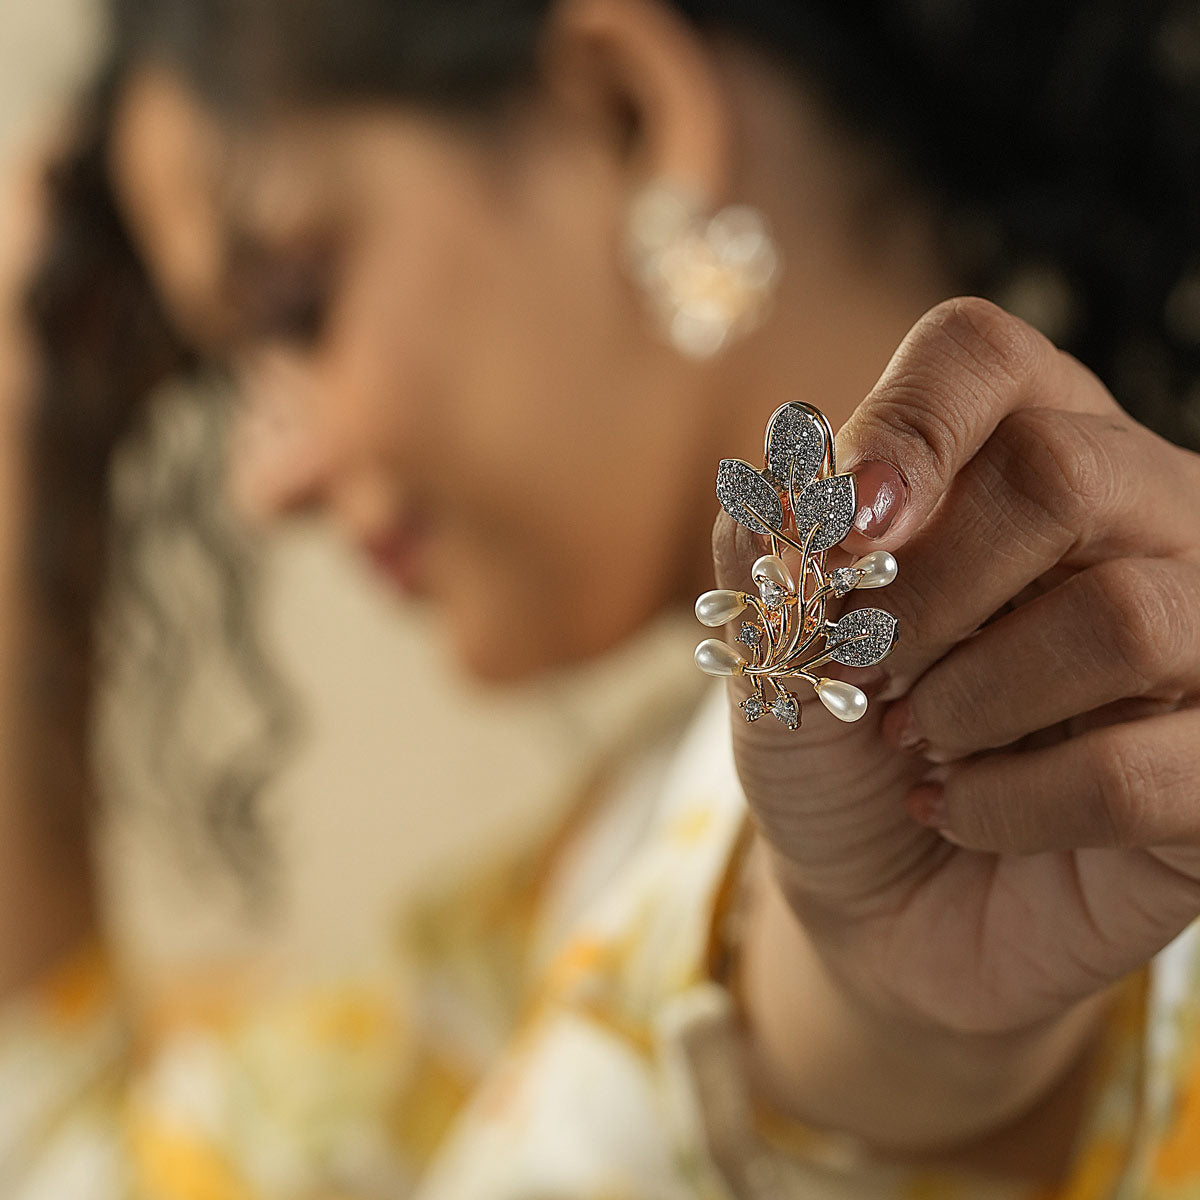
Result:
<svg viewBox="0 0 1200 1200"><path fill-rule="evenodd" d="M757 209L706 216L700 197L656 181L629 211L630 270L672 346L708 359L757 329L780 274L779 247Z"/></svg>

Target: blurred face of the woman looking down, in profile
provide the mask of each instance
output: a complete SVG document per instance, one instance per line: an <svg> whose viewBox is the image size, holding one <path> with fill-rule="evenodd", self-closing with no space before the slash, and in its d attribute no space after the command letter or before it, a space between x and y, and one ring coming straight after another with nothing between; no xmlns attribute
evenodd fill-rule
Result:
<svg viewBox="0 0 1200 1200"><path fill-rule="evenodd" d="M360 108L234 145L146 74L118 132L161 289L234 365L253 508L331 516L490 678L610 647L696 586L713 433L624 276L607 131Z"/></svg>

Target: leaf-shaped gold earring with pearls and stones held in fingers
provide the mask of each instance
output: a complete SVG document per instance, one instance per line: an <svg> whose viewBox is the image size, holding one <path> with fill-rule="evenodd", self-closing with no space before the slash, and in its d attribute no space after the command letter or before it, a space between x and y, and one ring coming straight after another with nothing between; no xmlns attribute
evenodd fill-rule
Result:
<svg viewBox="0 0 1200 1200"><path fill-rule="evenodd" d="M754 692L740 704L748 721L770 713L799 728L800 702L782 679L803 679L834 716L857 721L866 714L863 691L815 672L827 662L881 662L896 643L896 618L882 608L856 608L829 620L826 608L851 592L887 587L896 577L896 560L876 551L827 570L829 551L853 528L858 492L853 475L836 474L833 428L823 413L811 404L784 404L767 426L763 457L762 470L725 458L716 473L721 508L738 524L770 538L770 553L751 570L756 590L706 592L696 601L697 619L710 628L745 614L737 636L744 654L709 638L696 647L696 665L710 676L752 680ZM781 556L784 546L799 554L794 575Z"/></svg>

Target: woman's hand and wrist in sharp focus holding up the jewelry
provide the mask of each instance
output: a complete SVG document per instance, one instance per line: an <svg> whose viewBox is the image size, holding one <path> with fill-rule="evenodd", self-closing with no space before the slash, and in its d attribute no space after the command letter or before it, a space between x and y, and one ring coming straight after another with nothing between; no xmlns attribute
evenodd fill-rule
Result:
<svg viewBox="0 0 1200 1200"><path fill-rule="evenodd" d="M852 599L901 637L858 725L732 710L763 864L750 1054L796 1116L953 1157L1048 1103L1200 913L1200 456L972 299L914 326L838 445L902 480L846 546L896 554ZM722 515L719 586L764 552ZM1070 1133L1007 1168L1061 1171Z"/></svg>

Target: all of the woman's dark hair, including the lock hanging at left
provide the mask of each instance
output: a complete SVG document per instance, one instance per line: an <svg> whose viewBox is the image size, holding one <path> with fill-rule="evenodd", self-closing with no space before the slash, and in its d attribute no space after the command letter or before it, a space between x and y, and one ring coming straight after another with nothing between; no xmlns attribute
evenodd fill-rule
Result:
<svg viewBox="0 0 1200 1200"><path fill-rule="evenodd" d="M106 178L116 80L160 59L235 110L269 95L487 113L535 79L551 2L110 0L112 78L58 173L37 305L53 365L36 445L38 575L64 662L91 653L113 545L110 451L152 385L187 362ZM664 2L758 48L886 148L936 206L964 290L1049 326L1141 420L1200 445L1194 0ZM78 670L60 667L54 690L79 695ZM245 811L250 793L238 794Z"/></svg>

